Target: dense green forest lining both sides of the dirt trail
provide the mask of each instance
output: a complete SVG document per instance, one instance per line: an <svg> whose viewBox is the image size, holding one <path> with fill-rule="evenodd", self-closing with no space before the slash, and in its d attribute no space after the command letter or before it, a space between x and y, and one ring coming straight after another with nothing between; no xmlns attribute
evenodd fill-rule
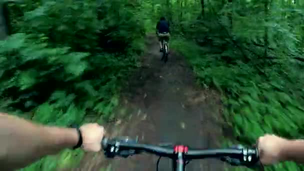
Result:
<svg viewBox="0 0 304 171"><path fill-rule="evenodd" d="M61 126L111 119L122 83L140 67L144 35L165 16L173 50L202 87L222 93L227 141L252 144L265 132L300 138L303 9L304 0L2 1L1 110ZM69 167L75 153L24 170Z"/></svg>

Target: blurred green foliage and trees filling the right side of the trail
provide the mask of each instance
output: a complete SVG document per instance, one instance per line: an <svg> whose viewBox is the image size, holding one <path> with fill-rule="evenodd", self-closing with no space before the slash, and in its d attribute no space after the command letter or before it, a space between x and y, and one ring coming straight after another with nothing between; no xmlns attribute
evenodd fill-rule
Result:
<svg viewBox="0 0 304 171"><path fill-rule="evenodd" d="M223 93L233 143L251 145L264 133L287 138L304 135L302 33L296 30L302 26L293 24L299 22L302 9L273 1L263 10L265 3L209 4L203 20L191 23L192 29L200 31L184 33L196 42L179 38L171 45L186 56L200 84ZM266 168L301 169L293 162Z"/></svg>

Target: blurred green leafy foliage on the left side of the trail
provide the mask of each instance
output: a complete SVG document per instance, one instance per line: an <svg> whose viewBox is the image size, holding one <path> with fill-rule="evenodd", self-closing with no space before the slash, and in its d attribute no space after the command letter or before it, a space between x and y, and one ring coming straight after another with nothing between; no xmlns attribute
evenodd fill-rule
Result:
<svg viewBox="0 0 304 171"><path fill-rule="evenodd" d="M9 4L13 34L0 41L1 111L59 126L113 117L144 48L139 8L127 0ZM23 170L71 167L82 154L64 150Z"/></svg>

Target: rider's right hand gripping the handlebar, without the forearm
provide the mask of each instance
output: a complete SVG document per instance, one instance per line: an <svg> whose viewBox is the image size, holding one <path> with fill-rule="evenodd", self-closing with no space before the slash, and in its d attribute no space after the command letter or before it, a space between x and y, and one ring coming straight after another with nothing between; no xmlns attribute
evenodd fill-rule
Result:
<svg viewBox="0 0 304 171"><path fill-rule="evenodd" d="M289 140L273 135L265 134L257 139L260 162L264 165L273 164L284 160L282 149Z"/></svg>

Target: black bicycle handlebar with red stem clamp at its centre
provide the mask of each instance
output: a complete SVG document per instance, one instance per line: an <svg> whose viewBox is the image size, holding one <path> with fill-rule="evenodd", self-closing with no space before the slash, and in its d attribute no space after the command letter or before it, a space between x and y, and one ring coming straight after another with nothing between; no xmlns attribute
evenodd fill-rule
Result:
<svg viewBox="0 0 304 171"><path fill-rule="evenodd" d="M185 161L192 159L203 159L216 157L230 163L231 165L244 165L252 167L259 161L258 150L256 148L245 148L237 146L223 149L189 149L185 145L174 145L173 147L151 144L139 144L137 140L127 137L109 139L104 137L101 141L103 150L107 157L116 155L127 157L129 155L148 152L158 156L171 158L173 170L184 170Z"/></svg>

